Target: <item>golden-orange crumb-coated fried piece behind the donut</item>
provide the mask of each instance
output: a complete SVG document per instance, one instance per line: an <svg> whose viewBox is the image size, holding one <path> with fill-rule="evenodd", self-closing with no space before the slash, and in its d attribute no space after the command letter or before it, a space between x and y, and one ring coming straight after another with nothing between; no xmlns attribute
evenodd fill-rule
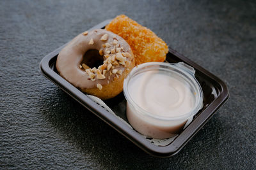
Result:
<svg viewBox="0 0 256 170"><path fill-rule="evenodd" d="M134 53L136 65L153 61L163 62L166 58L168 46L163 39L125 15L118 15L105 29L127 41Z"/></svg>

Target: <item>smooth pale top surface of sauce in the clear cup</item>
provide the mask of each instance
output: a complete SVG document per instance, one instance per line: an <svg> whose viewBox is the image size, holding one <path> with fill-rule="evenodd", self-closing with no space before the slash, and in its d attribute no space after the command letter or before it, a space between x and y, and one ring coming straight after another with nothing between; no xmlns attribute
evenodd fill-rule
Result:
<svg viewBox="0 0 256 170"><path fill-rule="evenodd" d="M195 94L188 83L173 77L158 71L137 74L129 82L129 94L138 106L152 115L185 115L195 106Z"/></svg>

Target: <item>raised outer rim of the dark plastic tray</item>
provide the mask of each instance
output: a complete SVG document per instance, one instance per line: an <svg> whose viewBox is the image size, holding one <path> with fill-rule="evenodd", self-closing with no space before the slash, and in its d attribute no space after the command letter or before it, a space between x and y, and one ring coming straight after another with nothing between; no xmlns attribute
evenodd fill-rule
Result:
<svg viewBox="0 0 256 170"><path fill-rule="evenodd" d="M102 28L105 25L107 25L111 20L112 19L105 20L88 30ZM184 131L182 131L182 133L180 133L179 136L177 136L177 138L175 138L173 142L170 143L170 145L156 146L147 141L145 138L143 138L138 132L129 128L128 125L124 124L124 122L118 120L118 118L116 118L114 115L104 110L104 108L100 107L99 104L92 101L90 97L84 95L83 92L81 92L76 87L68 83L68 81L66 81L64 78L62 78L59 74L54 72L49 67L49 62L52 59L54 59L56 55L58 55L58 53L65 45L67 45L67 43L60 46L59 48L56 48L56 50L47 54L41 60L40 71L42 72L42 74L44 74L46 78L51 80L54 84L60 87L68 95L76 99L76 101L82 104L85 108L87 108L101 120L106 122L106 124L110 125L111 127L113 127L113 129L120 132L120 134L125 136L125 138L132 141L132 143L140 147L145 152L156 157L170 157L177 154L186 145L186 143L188 143L188 141L191 138L193 138L193 136L195 136L195 134L208 122L208 120L214 115L214 113L220 108L220 106L222 106L227 101L229 97L228 87L224 81L222 81L220 78L210 73L203 67L199 66L192 60L189 60L187 57L180 54L176 50L173 50L169 47L170 53L177 56L186 64L189 64L189 66L194 67L196 70L200 71L201 73L204 73L206 76L216 81L216 83L220 85L221 89L220 94L218 94L216 99L214 99L214 101L212 101L212 103L209 104L207 108L205 108L205 110L198 115L198 117L194 118L193 122L191 122L191 124L188 125L189 128L186 127L186 129L184 129ZM191 131L191 128L193 131Z"/></svg>

